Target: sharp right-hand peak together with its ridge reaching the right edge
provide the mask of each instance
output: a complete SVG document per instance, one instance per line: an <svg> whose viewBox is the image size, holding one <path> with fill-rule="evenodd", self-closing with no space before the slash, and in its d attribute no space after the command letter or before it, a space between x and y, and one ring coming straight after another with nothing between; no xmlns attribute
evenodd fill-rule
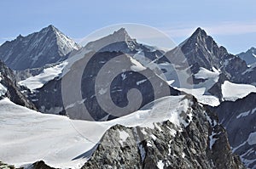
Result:
<svg viewBox="0 0 256 169"><path fill-rule="evenodd" d="M179 45L178 49L191 66L190 70L194 85L203 84L206 81L206 79L195 77L201 68L211 71L214 71L214 69L218 70L218 82L212 83L213 86L207 92L217 96L220 101L222 101L221 85L224 81L252 84L255 86L255 67L247 67L244 60L234 54L228 53L227 49L223 46L218 46L217 42L201 28L196 29L191 37ZM178 57L172 54L176 50L175 48L166 55L170 55L169 57Z"/></svg>

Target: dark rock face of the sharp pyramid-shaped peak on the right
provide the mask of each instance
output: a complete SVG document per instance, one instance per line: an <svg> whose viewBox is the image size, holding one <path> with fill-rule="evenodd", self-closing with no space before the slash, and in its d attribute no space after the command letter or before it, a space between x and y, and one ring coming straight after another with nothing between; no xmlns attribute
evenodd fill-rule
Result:
<svg viewBox="0 0 256 169"><path fill-rule="evenodd" d="M191 71L195 74L200 67L207 70L216 68L221 70L231 82L237 82L236 76L241 76L247 70L247 64L236 55L229 54L224 47L208 36L206 31L198 28L189 39L183 42L181 50L187 58Z"/></svg>

